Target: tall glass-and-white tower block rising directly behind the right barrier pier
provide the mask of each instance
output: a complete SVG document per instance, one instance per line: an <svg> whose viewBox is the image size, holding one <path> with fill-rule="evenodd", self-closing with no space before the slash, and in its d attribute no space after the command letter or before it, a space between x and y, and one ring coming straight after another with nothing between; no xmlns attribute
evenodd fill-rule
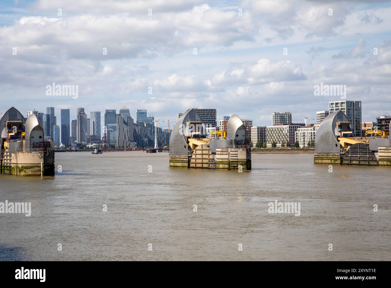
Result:
<svg viewBox="0 0 391 288"><path fill-rule="evenodd" d="M361 137L361 101L331 101L328 102L328 110L332 112L341 110L350 121L350 127L356 137Z"/></svg>

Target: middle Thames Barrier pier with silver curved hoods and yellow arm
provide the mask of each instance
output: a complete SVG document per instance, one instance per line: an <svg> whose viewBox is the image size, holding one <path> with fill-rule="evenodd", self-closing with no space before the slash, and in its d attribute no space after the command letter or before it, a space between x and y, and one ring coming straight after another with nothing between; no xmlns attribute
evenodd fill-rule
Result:
<svg viewBox="0 0 391 288"><path fill-rule="evenodd" d="M232 115L227 130L212 131L194 109L187 110L176 121L170 135L170 167L223 170L251 170L251 149L243 121Z"/></svg>

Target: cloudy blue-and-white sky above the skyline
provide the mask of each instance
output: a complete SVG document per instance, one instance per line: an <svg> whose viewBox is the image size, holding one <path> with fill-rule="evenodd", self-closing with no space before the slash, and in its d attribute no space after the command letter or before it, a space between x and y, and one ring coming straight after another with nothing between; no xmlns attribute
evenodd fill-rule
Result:
<svg viewBox="0 0 391 288"><path fill-rule="evenodd" d="M314 123L340 98L314 96L323 82L346 85L375 121L391 114L390 32L389 1L2 0L0 112L53 106L58 123L84 107L103 122L125 104L161 127L193 107ZM53 82L78 85L78 98L48 96Z"/></svg>

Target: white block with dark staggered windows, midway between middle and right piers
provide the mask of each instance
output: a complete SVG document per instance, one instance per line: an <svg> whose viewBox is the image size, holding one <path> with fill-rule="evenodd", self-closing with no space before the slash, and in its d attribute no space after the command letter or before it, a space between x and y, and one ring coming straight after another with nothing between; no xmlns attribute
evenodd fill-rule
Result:
<svg viewBox="0 0 391 288"><path fill-rule="evenodd" d="M276 142L277 147L282 147L283 142L285 142L285 146L288 142L292 147L295 142L295 132L303 126L303 124L266 126L266 147L271 148L273 141Z"/></svg>

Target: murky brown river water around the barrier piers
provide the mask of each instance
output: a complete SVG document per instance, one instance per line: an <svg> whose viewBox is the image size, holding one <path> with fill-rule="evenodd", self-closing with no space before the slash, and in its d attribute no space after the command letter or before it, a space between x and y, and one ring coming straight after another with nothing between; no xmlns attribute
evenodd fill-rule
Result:
<svg viewBox="0 0 391 288"><path fill-rule="evenodd" d="M0 202L31 202L30 217L0 214L0 260L391 260L391 168L253 153L239 173L139 151L56 153L58 165L0 175ZM300 216L268 213L275 200Z"/></svg>

